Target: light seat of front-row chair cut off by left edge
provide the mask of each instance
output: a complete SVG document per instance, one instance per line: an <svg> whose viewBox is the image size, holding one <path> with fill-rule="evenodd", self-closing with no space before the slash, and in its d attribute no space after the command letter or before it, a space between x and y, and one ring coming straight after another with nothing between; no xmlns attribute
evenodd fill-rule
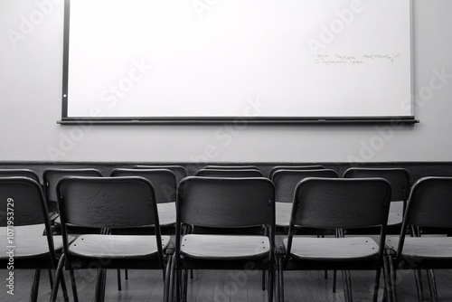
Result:
<svg viewBox="0 0 452 302"><path fill-rule="evenodd" d="M61 236L53 236L55 250L62 249ZM8 248L14 246L14 248ZM49 254L47 236L14 236L11 242L6 236L0 236L0 259L6 259L6 254L10 249L14 249L14 258L40 257Z"/></svg>

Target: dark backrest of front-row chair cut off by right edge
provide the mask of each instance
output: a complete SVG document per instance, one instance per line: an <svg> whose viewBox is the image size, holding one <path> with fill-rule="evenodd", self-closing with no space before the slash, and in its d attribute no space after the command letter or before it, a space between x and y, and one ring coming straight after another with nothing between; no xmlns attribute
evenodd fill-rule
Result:
<svg viewBox="0 0 452 302"><path fill-rule="evenodd" d="M413 185L403 221L408 225L452 228L452 177L423 177Z"/></svg>

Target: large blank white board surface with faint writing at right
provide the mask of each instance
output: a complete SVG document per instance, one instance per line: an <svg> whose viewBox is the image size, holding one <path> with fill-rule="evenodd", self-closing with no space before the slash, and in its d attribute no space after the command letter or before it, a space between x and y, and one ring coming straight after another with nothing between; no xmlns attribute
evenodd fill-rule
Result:
<svg viewBox="0 0 452 302"><path fill-rule="evenodd" d="M410 0L69 3L63 118L413 116Z"/></svg>

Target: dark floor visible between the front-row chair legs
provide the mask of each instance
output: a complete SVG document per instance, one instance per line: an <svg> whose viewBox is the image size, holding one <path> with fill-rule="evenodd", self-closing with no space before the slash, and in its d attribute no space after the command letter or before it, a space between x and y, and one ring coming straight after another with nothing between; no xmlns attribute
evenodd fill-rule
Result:
<svg viewBox="0 0 452 302"><path fill-rule="evenodd" d="M67 276L68 277L68 276ZM33 271L14 271L14 296L7 294L7 270L0 271L3 286L0 301L28 301L32 285ZM80 302L94 299L96 274L89 271L77 271L77 285ZM260 288L261 274L258 271L194 271L193 279L189 279L188 301L197 302L254 302L266 301L266 291ZM352 272L353 301L370 301L372 296L373 273L371 271ZM436 271L439 301L452 301L452 270ZM69 285L69 277L66 278ZM424 276L426 300L428 300L427 278ZM286 301L344 301L342 280L338 274L336 293L332 292L332 272L325 279L323 271L286 272ZM118 291L117 272L108 271L106 301L162 301L162 274L157 271L131 270L128 280L122 274L122 290ZM382 291L380 291L382 294ZM399 301L417 301L416 286L412 271L399 272ZM62 301L61 291L59 300ZM381 296L381 295L380 295ZM49 278L47 272L42 273L39 301L48 301L50 297ZM70 294L71 297L71 294ZM72 300L72 297L71 297ZM381 301L381 297L379 298Z"/></svg>

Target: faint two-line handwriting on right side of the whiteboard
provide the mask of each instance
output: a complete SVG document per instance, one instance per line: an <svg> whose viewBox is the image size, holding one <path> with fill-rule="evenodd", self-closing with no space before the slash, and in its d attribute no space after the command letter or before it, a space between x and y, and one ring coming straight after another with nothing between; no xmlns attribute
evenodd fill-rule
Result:
<svg viewBox="0 0 452 302"><path fill-rule="evenodd" d="M315 63L325 66L362 65L369 62L394 63L400 58L400 52L394 53L364 53L360 55L315 54Z"/></svg>

